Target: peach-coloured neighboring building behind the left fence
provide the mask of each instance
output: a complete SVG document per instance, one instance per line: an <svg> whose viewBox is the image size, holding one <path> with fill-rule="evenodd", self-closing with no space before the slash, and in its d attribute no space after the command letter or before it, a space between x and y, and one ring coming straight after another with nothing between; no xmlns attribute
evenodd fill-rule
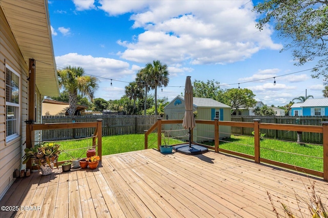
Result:
<svg viewBox="0 0 328 218"><path fill-rule="evenodd" d="M60 102L50 99L44 99L42 102L42 115L43 116L65 116L68 115L68 108L70 104L67 102ZM87 106L84 105L76 105L75 115L83 115L85 114L85 110Z"/></svg>

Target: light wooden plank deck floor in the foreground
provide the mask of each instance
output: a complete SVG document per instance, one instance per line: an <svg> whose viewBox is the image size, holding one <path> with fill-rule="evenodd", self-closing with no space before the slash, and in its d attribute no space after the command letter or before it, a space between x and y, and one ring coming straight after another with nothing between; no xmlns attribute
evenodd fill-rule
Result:
<svg viewBox="0 0 328 218"><path fill-rule="evenodd" d="M285 217L279 202L310 217L311 184L328 205L328 183L264 164L208 152L202 155L142 150L103 156L95 170L16 179L0 217ZM296 195L301 203L297 205ZM32 210L34 209L34 210Z"/></svg>

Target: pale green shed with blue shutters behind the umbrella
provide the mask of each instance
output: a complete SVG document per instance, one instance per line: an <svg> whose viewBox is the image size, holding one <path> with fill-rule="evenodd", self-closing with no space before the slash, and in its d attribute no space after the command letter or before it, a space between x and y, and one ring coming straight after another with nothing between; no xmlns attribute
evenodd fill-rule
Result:
<svg viewBox="0 0 328 218"><path fill-rule="evenodd" d="M164 107L163 119L183 119L185 116L185 99L177 96L167 106ZM231 121L231 107L213 99L193 98L193 111L197 111L196 119ZM183 129L182 124L163 125L163 130L172 130L171 136L185 135L186 131L174 131ZM231 127L220 126L219 137L230 137ZM211 141L214 138L214 126L206 124L196 124L193 130L193 141Z"/></svg>

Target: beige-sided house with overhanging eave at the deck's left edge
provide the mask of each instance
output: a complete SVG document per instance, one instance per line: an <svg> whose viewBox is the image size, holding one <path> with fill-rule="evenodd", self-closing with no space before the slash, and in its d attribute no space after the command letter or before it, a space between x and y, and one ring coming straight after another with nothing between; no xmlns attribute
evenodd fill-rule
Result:
<svg viewBox="0 0 328 218"><path fill-rule="evenodd" d="M25 168L25 121L42 123L44 96L59 94L48 0L0 1L0 71L2 199L14 181L15 168ZM40 140L39 131L33 140Z"/></svg>

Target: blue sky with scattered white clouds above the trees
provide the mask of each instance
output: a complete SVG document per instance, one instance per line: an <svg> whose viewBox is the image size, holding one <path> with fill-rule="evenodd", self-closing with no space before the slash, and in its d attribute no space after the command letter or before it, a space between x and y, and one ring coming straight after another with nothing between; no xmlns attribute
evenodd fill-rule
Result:
<svg viewBox="0 0 328 218"><path fill-rule="evenodd" d="M120 99L153 60L168 65L169 85L157 94L169 101L183 92L187 76L223 89L239 83L267 105L283 106L305 90L323 98L322 79L308 70L316 62L294 66L291 52L280 52L286 39L271 26L255 28L253 2L50 0L56 64L98 77L95 98L105 100Z"/></svg>

